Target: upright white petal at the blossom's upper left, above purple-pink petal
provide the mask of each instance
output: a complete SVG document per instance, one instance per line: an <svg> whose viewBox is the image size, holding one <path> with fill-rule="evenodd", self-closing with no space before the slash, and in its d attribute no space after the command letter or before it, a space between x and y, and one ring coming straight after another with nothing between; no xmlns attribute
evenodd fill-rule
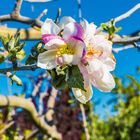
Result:
<svg viewBox="0 0 140 140"><path fill-rule="evenodd" d="M58 34L60 32L60 28L51 20L46 19L41 27L42 34Z"/></svg>

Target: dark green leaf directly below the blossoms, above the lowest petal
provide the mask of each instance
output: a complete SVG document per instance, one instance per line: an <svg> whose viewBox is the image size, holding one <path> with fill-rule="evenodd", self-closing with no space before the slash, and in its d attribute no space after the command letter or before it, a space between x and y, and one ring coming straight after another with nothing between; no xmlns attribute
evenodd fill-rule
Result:
<svg viewBox="0 0 140 140"><path fill-rule="evenodd" d="M66 82L69 88L84 89L84 79L77 65L72 65L67 69Z"/></svg>

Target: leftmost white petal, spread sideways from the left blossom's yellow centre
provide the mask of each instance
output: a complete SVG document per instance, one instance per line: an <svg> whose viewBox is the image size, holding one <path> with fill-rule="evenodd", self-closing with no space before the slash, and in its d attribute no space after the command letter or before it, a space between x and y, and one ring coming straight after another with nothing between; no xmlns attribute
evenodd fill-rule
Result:
<svg viewBox="0 0 140 140"><path fill-rule="evenodd" d="M57 50L49 50L40 53L38 56L37 66L48 70L55 68L57 66L56 52Z"/></svg>

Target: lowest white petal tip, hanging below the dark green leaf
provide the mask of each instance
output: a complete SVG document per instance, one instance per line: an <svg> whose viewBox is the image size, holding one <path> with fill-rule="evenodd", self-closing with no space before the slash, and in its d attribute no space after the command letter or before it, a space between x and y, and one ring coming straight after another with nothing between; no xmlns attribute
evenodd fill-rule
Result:
<svg viewBox="0 0 140 140"><path fill-rule="evenodd" d="M72 91L75 98L83 104L88 102L92 98L92 95L93 95L93 90L92 90L91 85L88 88L86 88L86 92L78 88L72 88Z"/></svg>

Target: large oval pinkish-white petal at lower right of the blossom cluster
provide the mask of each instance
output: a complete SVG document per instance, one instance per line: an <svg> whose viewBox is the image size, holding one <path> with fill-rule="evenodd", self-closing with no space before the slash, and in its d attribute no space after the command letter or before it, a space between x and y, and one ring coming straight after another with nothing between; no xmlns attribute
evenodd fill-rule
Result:
<svg viewBox="0 0 140 140"><path fill-rule="evenodd" d="M93 85L101 91L110 92L115 87L115 81L106 65L98 59L89 62L88 71Z"/></svg>

